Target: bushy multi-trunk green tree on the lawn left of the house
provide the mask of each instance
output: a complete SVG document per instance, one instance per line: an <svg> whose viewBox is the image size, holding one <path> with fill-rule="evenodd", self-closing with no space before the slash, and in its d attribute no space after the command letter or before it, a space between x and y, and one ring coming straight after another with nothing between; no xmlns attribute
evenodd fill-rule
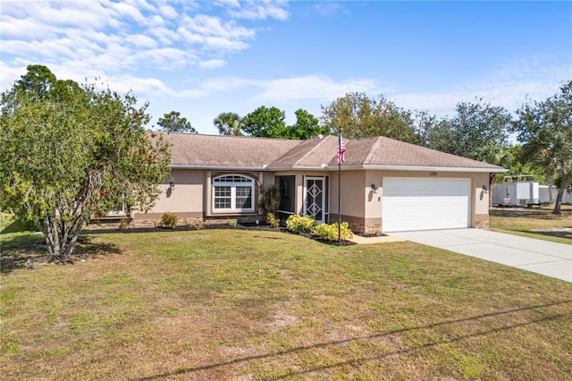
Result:
<svg viewBox="0 0 572 381"><path fill-rule="evenodd" d="M170 152L136 103L38 65L2 94L0 206L38 225L51 261L71 260L90 218L122 204L148 210L158 197Z"/></svg>

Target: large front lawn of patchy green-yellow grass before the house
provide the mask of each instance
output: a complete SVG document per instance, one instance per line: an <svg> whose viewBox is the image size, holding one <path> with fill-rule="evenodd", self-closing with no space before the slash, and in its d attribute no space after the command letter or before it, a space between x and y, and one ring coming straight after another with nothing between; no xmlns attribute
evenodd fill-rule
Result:
<svg viewBox="0 0 572 381"><path fill-rule="evenodd" d="M412 242L4 234L2 379L569 379L572 284ZM86 245L89 243L89 245Z"/></svg>

